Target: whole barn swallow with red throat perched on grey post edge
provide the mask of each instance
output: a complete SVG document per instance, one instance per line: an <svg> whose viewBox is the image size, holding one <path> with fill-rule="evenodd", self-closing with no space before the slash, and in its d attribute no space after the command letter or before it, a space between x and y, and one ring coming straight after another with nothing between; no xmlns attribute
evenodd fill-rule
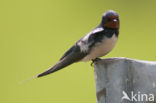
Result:
<svg viewBox="0 0 156 103"><path fill-rule="evenodd" d="M75 62L94 61L106 55L118 40L119 23L118 14L108 10L102 15L101 23L95 29L77 41L54 66L37 77L56 72Z"/></svg>

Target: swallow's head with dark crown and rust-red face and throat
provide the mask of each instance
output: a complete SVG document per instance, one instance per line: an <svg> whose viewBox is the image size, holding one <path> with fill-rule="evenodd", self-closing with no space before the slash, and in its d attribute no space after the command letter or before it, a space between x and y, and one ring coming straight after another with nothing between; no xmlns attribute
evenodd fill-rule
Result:
<svg viewBox="0 0 156 103"><path fill-rule="evenodd" d="M118 14L113 10L108 10L102 15L101 24L103 27L118 29L120 24Z"/></svg>

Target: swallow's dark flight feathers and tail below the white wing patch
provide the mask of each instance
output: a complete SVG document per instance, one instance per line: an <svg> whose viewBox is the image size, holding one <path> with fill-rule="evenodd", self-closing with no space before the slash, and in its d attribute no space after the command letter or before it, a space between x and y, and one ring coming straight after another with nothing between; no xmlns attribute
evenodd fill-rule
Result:
<svg viewBox="0 0 156 103"><path fill-rule="evenodd" d="M39 74L37 77L45 76L47 74L56 72L74 62L80 61L86 55L87 53L83 53L80 51L80 47L78 45L74 45L64 54L64 56L53 67Z"/></svg>

